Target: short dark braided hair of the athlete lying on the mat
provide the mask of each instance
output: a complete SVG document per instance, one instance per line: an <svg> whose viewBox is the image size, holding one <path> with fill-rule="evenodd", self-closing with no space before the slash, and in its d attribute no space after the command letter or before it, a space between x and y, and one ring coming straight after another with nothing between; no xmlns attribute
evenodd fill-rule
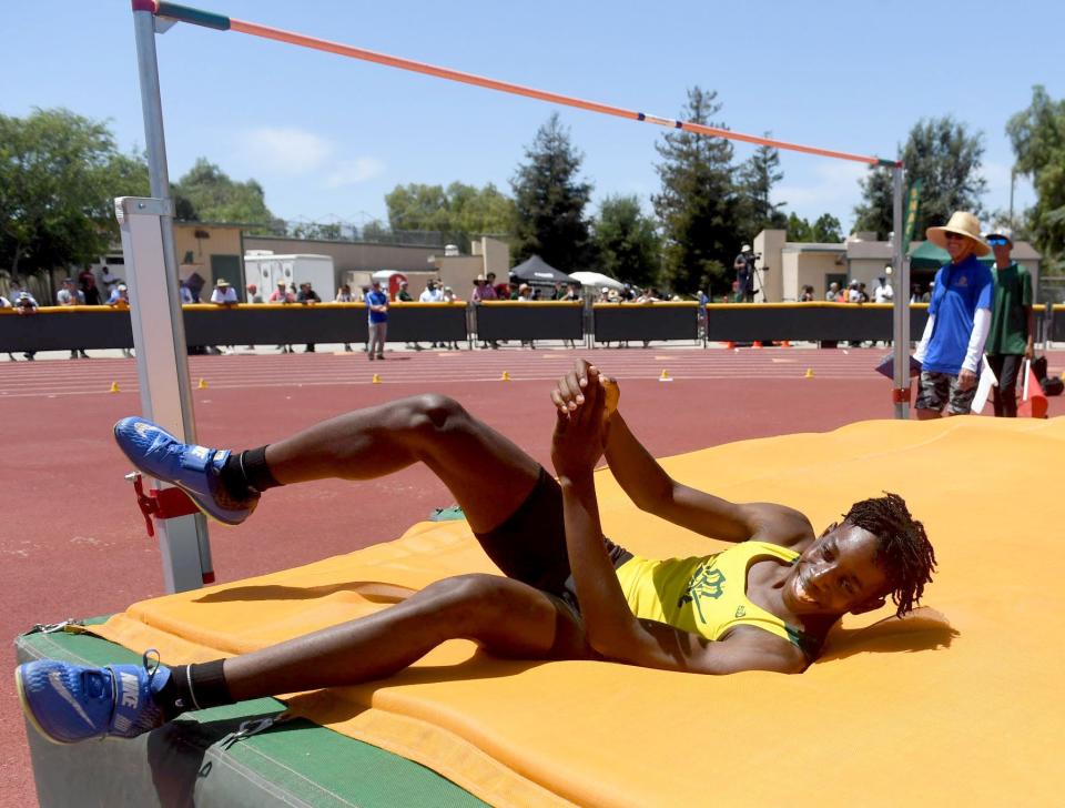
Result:
<svg viewBox="0 0 1065 808"><path fill-rule="evenodd" d="M897 607L895 614L902 617L921 599L924 585L932 583L935 551L924 525L910 515L905 499L897 494L884 494L854 503L844 519L880 539L876 564L888 575L891 599Z"/></svg>

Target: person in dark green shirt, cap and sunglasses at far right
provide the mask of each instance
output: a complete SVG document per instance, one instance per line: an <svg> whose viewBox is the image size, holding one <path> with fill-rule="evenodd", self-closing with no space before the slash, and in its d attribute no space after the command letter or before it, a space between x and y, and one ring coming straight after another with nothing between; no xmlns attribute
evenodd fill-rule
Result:
<svg viewBox="0 0 1065 808"><path fill-rule="evenodd" d="M1010 259L1013 233L1006 229L987 234L995 253L995 301L987 335L987 364L998 380L992 391L996 417L1017 417L1017 372L1021 360L1035 357L1035 313L1032 311L1032 275Z"/></svg>

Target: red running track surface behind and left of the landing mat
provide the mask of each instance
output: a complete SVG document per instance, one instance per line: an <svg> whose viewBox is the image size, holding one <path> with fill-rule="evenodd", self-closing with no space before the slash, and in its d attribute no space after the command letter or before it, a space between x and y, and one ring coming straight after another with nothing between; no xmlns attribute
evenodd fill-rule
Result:
<svg viewBox="0 0 1065 808"><path fill-rule="evenodd" d="M584 354L585 352L581 352ZM621 381L621 408L656 456L751 437L820 432L891 417L889 383L874 374L884 351L599 350ZM549 464L555 417L551 380L574 352L362 353L194 356L201 442L248 447L346 410L435 391ZM1061 373L1065 354L1052 355ZM807 370L813 372L807 378ZM658 378L666 370L673 378ZM514 381L499 381L507 371ZM382 383L372 382L378 373ZM119 393L110 393L118 382ZM111 438L120 417L139 412L131 360L0 364L4 491L0 557L0 635L36 623L121 610L162 594L162 569L146 538L128 462ZM1051 400L1051 415L1065 413ZM386 541L434 507L452 504L425 468L363 484L323 482L264 498L246 526L212 526L219 582L305 564ZM9 646L10 648L10 646ZM8 671L13 653L8 652ZM0 805L36 801L12 677L0 675Z"/></svg>

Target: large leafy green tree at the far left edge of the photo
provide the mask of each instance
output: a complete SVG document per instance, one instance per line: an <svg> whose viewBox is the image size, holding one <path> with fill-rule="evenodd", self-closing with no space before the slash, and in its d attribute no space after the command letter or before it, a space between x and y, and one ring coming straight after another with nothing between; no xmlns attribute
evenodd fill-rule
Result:
<svg viewBox="0 0 1065 808"><path fill-rule="evenodd" d="M148 194L148 168L105 123L69 110L0 114L0 266L84 264L118 238L115 196Z"/></svg>

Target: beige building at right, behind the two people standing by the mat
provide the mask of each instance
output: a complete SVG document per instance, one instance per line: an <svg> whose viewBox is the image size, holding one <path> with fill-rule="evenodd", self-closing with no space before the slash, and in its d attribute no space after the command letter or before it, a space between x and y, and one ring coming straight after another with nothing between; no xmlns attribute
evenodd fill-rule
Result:
<svg viewBox="0 0 1065 808"><path fill-rule="evenodd" d="M875 241L872 233L854 233L840 243L818 244L785 241L783 230L763 230L754 238L754 252L761 253L754 280L754 300L770 303L798 301L802 287L813 286L813 296L823 301L831 283L846 289L851 281L865 284L870 296L876 279L889 274L892 244ZM910 244L910 254L924 242ZM1013 260L1032 273L1033 292L1038 289L1042 256L1031 244L1018 241L1013 248ZM935 266L912 265L911 283L927 290L935 276ZM892 283L892 286L896 284ZM895 290L897 293L899 290Z"/></svg>

